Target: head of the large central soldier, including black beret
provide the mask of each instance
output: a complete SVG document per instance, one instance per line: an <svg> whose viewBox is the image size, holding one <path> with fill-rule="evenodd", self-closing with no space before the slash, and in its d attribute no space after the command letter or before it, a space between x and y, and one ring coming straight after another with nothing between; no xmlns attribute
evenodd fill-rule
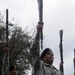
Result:
<svg viewBox="0 0 75 75"><path fill-rule="evenodd" d="M44 49L40 56L41 60L45 63L52 65L54 60L54 54L50 48Z"/></svg>

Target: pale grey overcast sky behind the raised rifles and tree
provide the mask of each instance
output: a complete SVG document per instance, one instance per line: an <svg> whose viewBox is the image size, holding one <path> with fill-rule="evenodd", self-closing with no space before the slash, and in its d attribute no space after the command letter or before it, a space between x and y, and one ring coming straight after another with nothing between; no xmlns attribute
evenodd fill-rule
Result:
<svg viewBox="0 0 75 75"><path fill-rule="evenodd" d="M37 0L0 0L0 11L5 15L9 9L9 20L18 20L21 27L35 29L38 23ZM43 0L44 48L50 47L55 56L54 65L59 68L59 30L63 30L64 72L73 75L75 48L75 0ZM15 22L14 22L15 23Z"/></svg>

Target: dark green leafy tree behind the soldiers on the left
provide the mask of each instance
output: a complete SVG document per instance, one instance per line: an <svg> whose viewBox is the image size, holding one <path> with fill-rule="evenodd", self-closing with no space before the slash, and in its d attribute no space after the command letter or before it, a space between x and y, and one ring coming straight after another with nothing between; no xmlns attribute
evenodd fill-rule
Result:
<svg viewBox="0 0 75 75"><path fill-rule="evenodd" d="M10 27L9 27L10 28ZM5 27L0 25L0 66L2 67L2 59L4 56L4 47L6 43ZM10 29L9 29L10 30ZM10 65L16 65L20 75L26 73L30 69L30 39L28 31L23 31L21 27L14 26L10 30L9 35L9 61ZM0 68L0 73L2 68ZM1 75L1 74L0 74Z"/></svg>

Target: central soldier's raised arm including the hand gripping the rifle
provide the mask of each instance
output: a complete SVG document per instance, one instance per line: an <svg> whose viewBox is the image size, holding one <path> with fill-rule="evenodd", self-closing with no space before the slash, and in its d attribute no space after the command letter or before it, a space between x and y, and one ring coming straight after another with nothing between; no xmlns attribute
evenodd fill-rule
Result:
<svg viewBox="0 0 75 75"><path fill-rule="evenodd" d="M37 25L37 32L35 35L35 39L33 41L32 47L30 49L31 54L31 64L32 66L35 64L40 54L40 28L43 28L43 23L39 22Z"/></svg>

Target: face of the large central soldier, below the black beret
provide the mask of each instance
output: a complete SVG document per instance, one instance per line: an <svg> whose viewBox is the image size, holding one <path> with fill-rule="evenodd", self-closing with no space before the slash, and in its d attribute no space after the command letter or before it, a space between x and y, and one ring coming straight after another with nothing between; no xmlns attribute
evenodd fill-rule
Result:
<svg viewBox="0 0 75 75"><path fill-rule="evenodd" d="M43 62L51 64L51 65L53 63L53 60L54 60L54 54L52 51L47 52L43 58Z"/></svg>

